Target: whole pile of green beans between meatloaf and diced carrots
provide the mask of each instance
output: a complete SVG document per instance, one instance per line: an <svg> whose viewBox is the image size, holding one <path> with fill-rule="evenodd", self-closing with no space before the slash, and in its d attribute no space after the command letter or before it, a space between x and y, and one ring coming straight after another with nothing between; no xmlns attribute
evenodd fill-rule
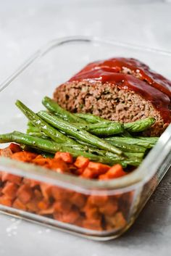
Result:
<svg viewBox="0 0 171 256"><path fill-rule="evenodd" d="M119 123L90 113L70 113L47 96L42 103L46 110L35 113L17 100L17 107L28 117L27 133L1 134L0 143L16 142L43 154L70 152L73 157L82 155L108 165L120 163L123 168L140 165L157 143L157 137L139 136L154 124L153 117Z"/></svg>

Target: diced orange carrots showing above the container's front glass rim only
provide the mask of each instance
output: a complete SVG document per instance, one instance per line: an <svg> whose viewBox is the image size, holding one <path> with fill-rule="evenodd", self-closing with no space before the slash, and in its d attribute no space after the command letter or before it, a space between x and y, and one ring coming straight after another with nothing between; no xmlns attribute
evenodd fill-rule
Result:
<svg viewBox="0 0 171 256"><path fill-rule="evenodd" d="M20 145L14 143L10 144L6 149L1 149L0 155L10 157L13 160L41 165L58 173L74 174L82 178L107 180L110 178L119 178L127 174L120 164L110 167L100 162L91 162L88 158L82 156L74 160L72 155L67 152L57 152L54 158L47 158L41 154L22 151Z"/></svg>

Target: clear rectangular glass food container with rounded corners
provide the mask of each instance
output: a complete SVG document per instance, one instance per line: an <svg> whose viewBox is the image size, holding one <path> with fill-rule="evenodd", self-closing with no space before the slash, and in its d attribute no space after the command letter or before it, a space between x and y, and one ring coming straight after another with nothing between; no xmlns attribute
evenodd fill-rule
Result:
<svg viewBox="0 0 171 256"><path fill-rule="evenodd" d="M43 96L68 80L88 62L134 57L171 79L171 53L100 40L70 37L51 41L36 51L0 86L0 131L26 130L26 118L15 107L20 99L34 111ZM0 210L63 231L96 240L120 236L133 223L171 164L171 126L141 166L128 176L109 181L78 178L0 157ZM4 187L14 195L4 200ZM16 197L23 191L25 197Z"/></svg>

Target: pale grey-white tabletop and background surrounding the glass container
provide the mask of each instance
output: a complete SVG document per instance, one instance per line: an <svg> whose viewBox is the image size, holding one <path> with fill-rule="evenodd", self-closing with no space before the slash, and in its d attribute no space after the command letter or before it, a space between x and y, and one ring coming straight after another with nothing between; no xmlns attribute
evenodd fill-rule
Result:
<svg viewBox="0 0 171 256"><path fill-rule="evenodd" d="M0 80L47 41L71 35L101 36L171 51L171 3L0 0ZM170 255L170 193L167 173L130 231L109 242L80 239L0 215L0 256Z"/></svg>

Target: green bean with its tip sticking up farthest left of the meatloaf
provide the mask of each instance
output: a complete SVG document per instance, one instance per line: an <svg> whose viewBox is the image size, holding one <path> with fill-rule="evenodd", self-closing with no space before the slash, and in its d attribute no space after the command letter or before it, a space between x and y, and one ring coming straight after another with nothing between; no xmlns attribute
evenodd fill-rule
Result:
<svg viewBox="0 0 171 256"><path fill-rule="evenodd" d="M17 100L16 105L23 112L23 114L28 117L30 122L38 127L40 131L45 133L46 136L49 136L51 139L58 143L73 143L72 139L67 138L67 136L65 136L63 133L57 131L57 129L55 129L54 127L51 127L49 123L46 123L44 120L41 119L41 117L38 117L36 113L26 107L25 104L23 104L19 100Z"/></svg>

